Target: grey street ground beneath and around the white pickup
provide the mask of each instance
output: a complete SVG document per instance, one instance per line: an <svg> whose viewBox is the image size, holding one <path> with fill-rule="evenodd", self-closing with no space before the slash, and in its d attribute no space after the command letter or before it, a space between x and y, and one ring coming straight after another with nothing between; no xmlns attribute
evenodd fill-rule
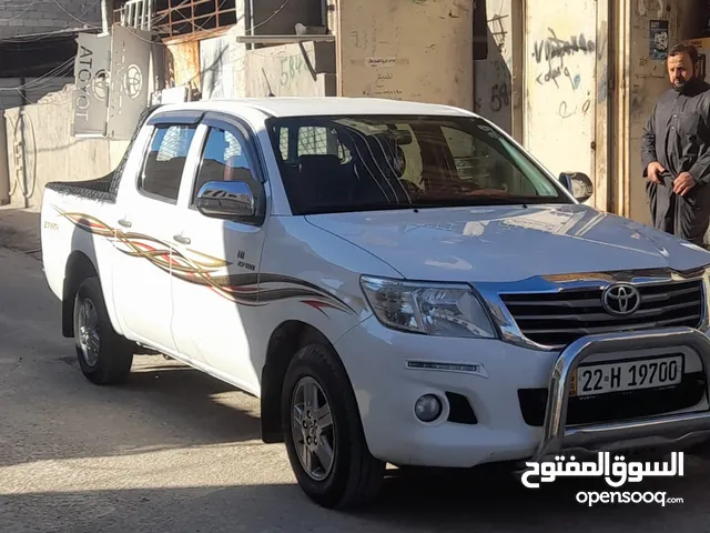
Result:
<svg viewBox="0 0 710 533"><path fill-rule="evenodd" d="M9 222L12 213L12 222ZM515 477L392 471L369 511L307 501L282 445L258 441L258 404L162 356L98 388L60 333L38 258L36 213L0 209L0 532L710 532L710 462L620 490L684 503L586 507L604 482L525 489Z"/></svg>

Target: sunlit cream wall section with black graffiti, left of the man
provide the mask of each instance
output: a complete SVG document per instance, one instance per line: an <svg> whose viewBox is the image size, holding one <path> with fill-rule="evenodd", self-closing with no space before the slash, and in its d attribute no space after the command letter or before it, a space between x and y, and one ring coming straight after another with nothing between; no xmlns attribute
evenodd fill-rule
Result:
<svg viewBox="0 0 710 533"><path fill-rule="evenodd" d="M485 0L488 57L475 61L475 111L555 174L585 172L588 204L607 210L611 47L622 0Z"/></svg>

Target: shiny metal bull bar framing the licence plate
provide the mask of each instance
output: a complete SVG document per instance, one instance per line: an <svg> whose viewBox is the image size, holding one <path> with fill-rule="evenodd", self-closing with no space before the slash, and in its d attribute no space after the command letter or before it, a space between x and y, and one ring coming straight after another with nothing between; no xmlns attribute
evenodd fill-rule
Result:
<svg viewBox="0 0 710 533"><path fill-rule="evenodd" d="M643 349L686 346L702 362L710 383L710 339L691 328L669 328L587 335L570 343L557 359L549 384L542 440L532 461L559 454L567 449L591 451L588 446L615 445L637 439L681 443L710 438L710 411L649 416L628 422L586 424L566 428L568 396L577 366L590 355ZM708 388L706 386L706 396Z"/></svg>

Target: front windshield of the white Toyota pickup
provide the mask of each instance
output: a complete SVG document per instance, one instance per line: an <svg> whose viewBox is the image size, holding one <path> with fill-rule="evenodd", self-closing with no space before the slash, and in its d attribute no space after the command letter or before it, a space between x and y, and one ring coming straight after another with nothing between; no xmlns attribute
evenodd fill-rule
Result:
<svg viewBox="0 0 710 533"><path fill-rule="evenodd" d="M267 128L294 214L574 203L475 117L290 117Z"/></svg>

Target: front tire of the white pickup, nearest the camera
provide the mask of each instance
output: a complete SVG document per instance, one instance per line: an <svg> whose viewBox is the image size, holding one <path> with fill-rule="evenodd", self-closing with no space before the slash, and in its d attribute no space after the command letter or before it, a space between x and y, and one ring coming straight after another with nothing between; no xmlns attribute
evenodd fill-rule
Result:
<svg viewBox="0 0 710 533"><path fill-rule="evenodd" d="M297 435L294 435L292 420L295 420L295 405L301 402L304 390L317 391L318 406L322 406L324 401L327 402L332 425L325 429L316 426L314 430L311 425L313 420L306 416L308 429L304 428L298 433L301 424L296 430ZM291 466L298 485L311 500L327 509L343 510L363 506L376 497L386 463L373 457L367 449L355 394L345 369L331 349L311 344L294 355L284 380L281 412ZM306 413L306 409L303 412ZM316 438L325 436L333 444L329 469L322 467L324 462L315 457L312 460L314 465L321 466L317 475L306 471L296 451L297 447L302 450L296 439L305 440L306 435L311 435L310 431L313 431L312 434ZM323 450L324 446L321 444L318 452Z"/></svg>

